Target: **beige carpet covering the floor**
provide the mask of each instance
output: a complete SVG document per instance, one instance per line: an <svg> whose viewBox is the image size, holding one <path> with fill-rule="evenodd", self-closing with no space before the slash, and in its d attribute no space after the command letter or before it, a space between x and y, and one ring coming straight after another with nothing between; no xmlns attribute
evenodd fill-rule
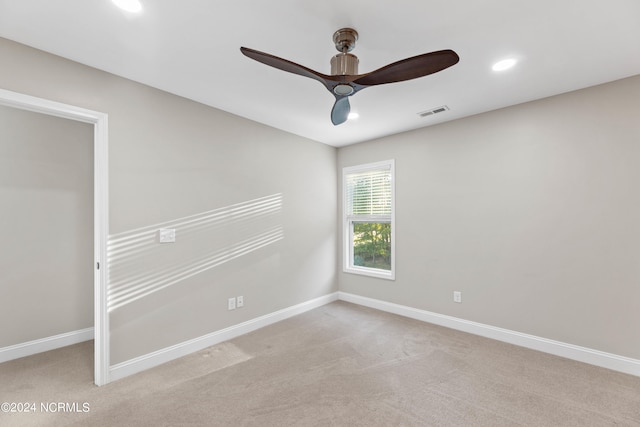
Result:
<svg viewBox="0 0 640 427"><path fill-rule="evenodd" d="M345 302L104 387L92 352L0 364L37 406L0 426L640 426L638 377Z"/></svg>

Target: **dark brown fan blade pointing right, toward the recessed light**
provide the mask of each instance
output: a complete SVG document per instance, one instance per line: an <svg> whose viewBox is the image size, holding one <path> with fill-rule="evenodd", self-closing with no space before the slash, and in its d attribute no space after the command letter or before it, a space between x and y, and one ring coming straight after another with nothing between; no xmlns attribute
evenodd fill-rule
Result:
<svg viewBox="0 0 640 427"><path fill-rule="evenodd" d="M439 50L394 62L367 74L362 74L353 83L374 86L402 82L437 73L455 65L460 60L452 50Z"/></svg>

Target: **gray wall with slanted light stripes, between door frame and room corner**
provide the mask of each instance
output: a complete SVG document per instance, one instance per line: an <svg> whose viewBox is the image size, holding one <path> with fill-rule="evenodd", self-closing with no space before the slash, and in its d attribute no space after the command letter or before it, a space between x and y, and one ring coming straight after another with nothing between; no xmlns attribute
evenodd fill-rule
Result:
<svg viewBox="0 0 640 427"><path fill-rule="evenodd" d="M3 88L109 115L112 241L181 224L176 243L131 247L114 261L116 273L172 274L208 256L206 239L229 252L239 242L225 227L189 235L181 219L281 200L268 218L234 217L236 228L226 227L251 237L264 219L281 239L113 310L112 364L337 290L334 148L8 40L0 39L0 56ZM238 295L245 307L227 311L227 298Z"/></svg>

